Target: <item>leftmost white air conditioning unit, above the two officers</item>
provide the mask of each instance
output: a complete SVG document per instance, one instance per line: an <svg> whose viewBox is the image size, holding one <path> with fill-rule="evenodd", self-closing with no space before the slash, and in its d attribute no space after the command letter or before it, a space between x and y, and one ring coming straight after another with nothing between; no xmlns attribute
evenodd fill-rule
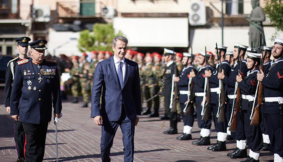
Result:
<svg viewBox="0 0 283 162"><path fill-rule="evenodd" d="M34 6L34 20L37 22L49 22L50 21L50 7Z"/></svg>

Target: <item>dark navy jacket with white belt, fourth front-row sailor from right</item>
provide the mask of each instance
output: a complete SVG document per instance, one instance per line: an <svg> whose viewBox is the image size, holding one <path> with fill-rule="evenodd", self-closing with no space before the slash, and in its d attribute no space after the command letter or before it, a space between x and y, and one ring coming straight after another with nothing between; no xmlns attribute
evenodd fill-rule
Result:
<svg viewBox="0 0 283 162"><path fill-rule="evenodd" d="M224 72L224 75L229 75L230 70L231 70L231 66L230 63L227 60L224 60L221 62L221 67L222 70ZM211 76L209 77L209 82L210 82L210 88L214 89L214 88L218 88L219 89L219 79L218 79L218 72L219 72L219 62L216 64L216 67L214 69L214 71L212 71ZM225 86L225 85L224 85ZM213 90L211 90L211 103L212 104L218 104L219 103L219 92L212 92ZM225 95L225 94L223 94Z"/></svg>

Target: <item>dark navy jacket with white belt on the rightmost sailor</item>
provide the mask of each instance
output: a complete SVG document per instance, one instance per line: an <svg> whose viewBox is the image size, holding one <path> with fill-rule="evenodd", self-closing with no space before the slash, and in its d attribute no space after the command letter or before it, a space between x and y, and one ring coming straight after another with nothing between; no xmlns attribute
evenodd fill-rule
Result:
<svg viewBox="0 0 283 162"><path fill-rule="evenodd" d="M272 60L262 79L263 97L283 97L283 58ZM279 102L264 102L264 113L279 113ZM279 122L279 121L278 121Z"/></svg>

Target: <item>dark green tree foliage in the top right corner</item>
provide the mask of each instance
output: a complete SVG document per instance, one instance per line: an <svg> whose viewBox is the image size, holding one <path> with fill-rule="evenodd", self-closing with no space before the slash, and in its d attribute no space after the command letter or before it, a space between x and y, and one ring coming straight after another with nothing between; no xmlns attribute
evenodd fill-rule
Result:
<svg viewBox="0 0 283 162"><path fill-rule="evenodd" d="M283 31L283 0L265 0L264 12L277 31ZM276 35L276 34L275 34Z"/></svg>

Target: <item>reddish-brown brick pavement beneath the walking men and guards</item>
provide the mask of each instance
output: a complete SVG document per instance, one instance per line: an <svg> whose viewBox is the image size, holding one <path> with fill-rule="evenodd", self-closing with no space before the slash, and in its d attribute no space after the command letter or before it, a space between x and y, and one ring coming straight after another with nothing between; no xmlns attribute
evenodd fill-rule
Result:
<svg viewBox="0 0 283 162"><path fill-rule="evenodd" d="M4 88L0 87L0 100L3 101ZM79 104L71 104L72 96L63 102L63 117L58 123L58 157L62 161L95 161L100 159L101 128L93 123L90 118L90 108L80 108ZM80 98L82 101L82 99ZM90 105L89 105L90 106ZM161 110L160 110L161 111ZM230 159L226 154L234 150L236 141L227 141L227 150L212 152L206 150L207 146L192 145L197 140L200 129L195 120L193 126L193 140L176 140L183 131L183 123L178 123L179 134L165 135L162 132L169 127L169 121L165 122L163 129L159 118L141 116L135 131L136 162L193 162L210 161L239 162L245 159ZM13 120L7 114L4 105L0 106L0 162L12 162L17 158L15 142L13 141ZM214 127L212 126L212 130ZM215 131L211 132L211 144L215 144L217 137ZM111 161L123 162L122 133L118 129L111 149ZM55 126L50 123L47 132L44 162L56 161ZM264 151L260 161L273 161L273 153Z"/></svg>

